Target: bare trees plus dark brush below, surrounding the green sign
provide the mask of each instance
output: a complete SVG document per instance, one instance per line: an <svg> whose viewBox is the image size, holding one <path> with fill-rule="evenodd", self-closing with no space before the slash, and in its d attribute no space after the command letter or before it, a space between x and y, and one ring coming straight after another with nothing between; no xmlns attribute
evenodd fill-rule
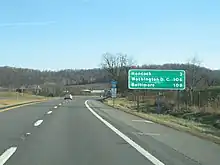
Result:
<svg viewBox="0 0 220 165"><path fill-rule="evenodd" d="M128 70L132 67L139 69L167 69L186 71L186 90L184 91L153 91L153 90L129 90ZM126 54L103 55L102 68L108 73L110 79L118 81L118 91L122 96L130 96L137 101L139 96L152 95L155 98L158 93L163 95L164 110L181 110L191 108L193 105L200 108L215 107L220 105L220 70L211 70L201 66L201 62L192 58L184 64L142 65L138 66L134 60ZM146 96L146 97L148 97ZM142 97L141 97L142 98Z"/></svg>

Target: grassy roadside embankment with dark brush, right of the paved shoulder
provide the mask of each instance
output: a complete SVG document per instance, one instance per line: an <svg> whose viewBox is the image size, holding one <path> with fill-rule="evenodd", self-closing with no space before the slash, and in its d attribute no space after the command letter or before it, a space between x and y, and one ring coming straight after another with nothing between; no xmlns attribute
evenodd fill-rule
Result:
<svg viewBox="0 0 220 165"><path fill-rule="evenodd" d="M112 99L104 101L105 104L113 106ZM136 109L136 102L126 98L117 98L114 107L127 113L151 120L176 130L185 131L201 138L209 139L220 144L220 114L190 112L179 114L156 114L154 100L140 103L140 110Z"/></svg>

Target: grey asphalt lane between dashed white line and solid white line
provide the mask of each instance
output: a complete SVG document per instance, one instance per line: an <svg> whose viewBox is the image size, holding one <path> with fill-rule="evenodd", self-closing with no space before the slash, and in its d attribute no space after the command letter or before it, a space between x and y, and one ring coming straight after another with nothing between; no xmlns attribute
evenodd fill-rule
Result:
<svg viewBox="0 0 220 165"><path fill-rule="evenodd" d="M46 116L6 164L164 165L136 143L129 142L132 147L108 127L88 110L84 98L77 98Z"/></svg>

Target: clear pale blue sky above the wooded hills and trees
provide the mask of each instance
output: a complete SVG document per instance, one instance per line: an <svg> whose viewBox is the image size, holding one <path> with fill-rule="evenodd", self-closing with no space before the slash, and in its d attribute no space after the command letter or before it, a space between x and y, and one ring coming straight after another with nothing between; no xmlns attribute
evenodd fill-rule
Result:
<svg viewBox="0 0 220 165"><path fill-rule="evenodd" d="M0 66L94 68L121 52L220 69L219 18L219 0L0 1Z"/></svg>

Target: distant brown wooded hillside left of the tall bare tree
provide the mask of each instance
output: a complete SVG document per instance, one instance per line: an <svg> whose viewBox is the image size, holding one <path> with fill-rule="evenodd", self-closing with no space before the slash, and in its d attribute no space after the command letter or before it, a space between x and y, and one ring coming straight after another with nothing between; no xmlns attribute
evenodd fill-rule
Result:
<svg viewBox="0 0 220 165"><path fill-rule="evenodd" d="M19 88L20 86L42 85L47 83L78 85L108 82L107 73L102 69L39 71L33 69L0 67L0 86Z"/></svg>

